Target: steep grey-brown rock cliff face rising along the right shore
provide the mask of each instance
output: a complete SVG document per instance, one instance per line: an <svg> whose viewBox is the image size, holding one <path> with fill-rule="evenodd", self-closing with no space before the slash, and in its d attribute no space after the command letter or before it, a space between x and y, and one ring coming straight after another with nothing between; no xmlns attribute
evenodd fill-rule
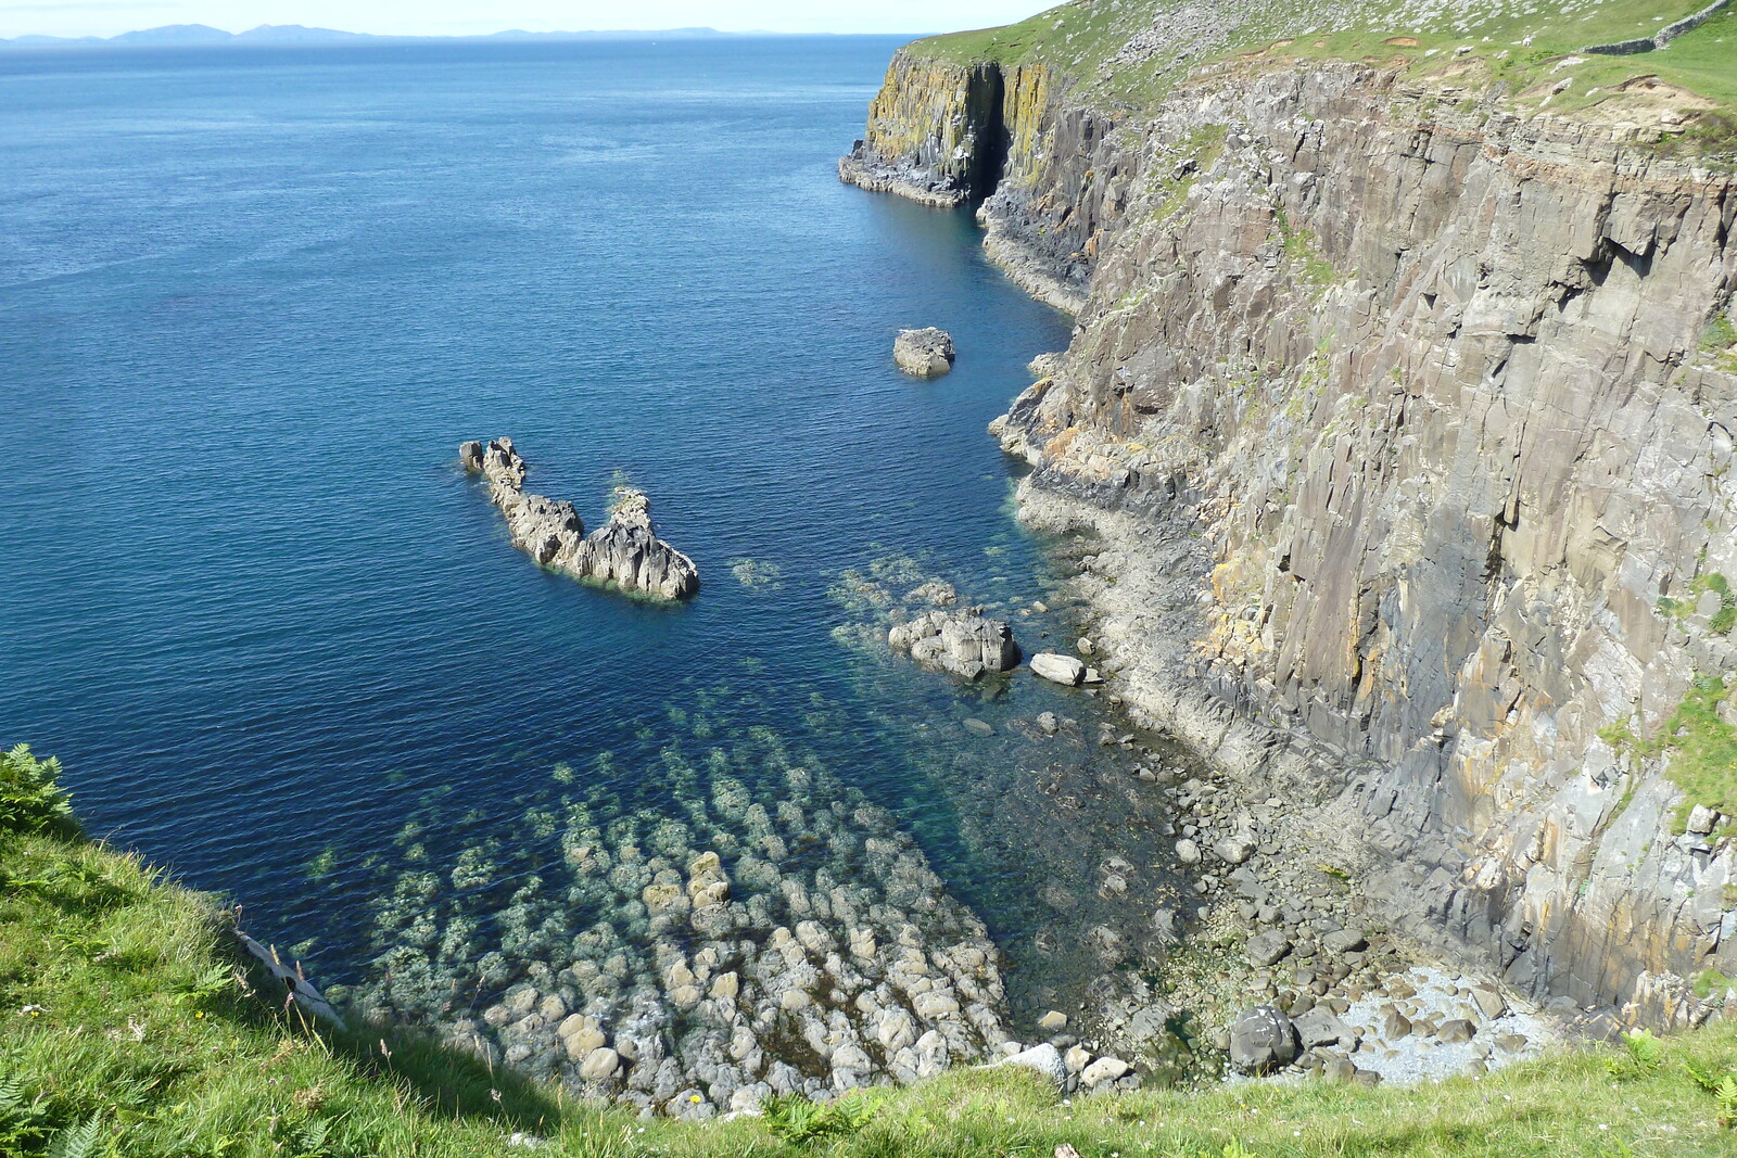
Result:
<svg viewBox="0 0 1737 1158"><path fill-rule="evenodd" d="M1119 118L1047 78L981 217L1079 326L997 432L1030 517L1105 535L1133 705L1362 830L1414 932L1694 1019L1737 972L1737 182L1400 76L1242 61Z"/></svg>

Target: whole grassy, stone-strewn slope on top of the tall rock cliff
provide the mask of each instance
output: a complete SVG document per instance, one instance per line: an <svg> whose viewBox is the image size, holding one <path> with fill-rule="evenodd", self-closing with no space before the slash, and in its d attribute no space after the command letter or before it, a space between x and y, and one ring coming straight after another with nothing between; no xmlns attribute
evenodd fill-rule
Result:
<svg viewBox="0 0 1737 1158"><path fill-rule="evenodd" d="M1702 7L1706 0L1070 0L1006 28L919 40L910 52L955 63L1042 61L1075 78L1086 99L1136 109L1193 69L1251 61L1391 63L1417 80L1473 90L1499 85L1527 106L1608 106L1612 115L1633 104L1636 80L1654 78L1640 87L1657 123L1664 106L1688 116L1737 109L1737 7L1654 52L1598 56L1581 49L1657 33ZM1562 82L1569 83L1556 92Z"/></svg>

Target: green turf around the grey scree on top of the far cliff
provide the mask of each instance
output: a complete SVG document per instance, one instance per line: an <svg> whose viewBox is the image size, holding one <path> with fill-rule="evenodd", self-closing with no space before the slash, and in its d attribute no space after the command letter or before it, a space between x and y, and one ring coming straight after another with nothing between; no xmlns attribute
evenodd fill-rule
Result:
<svg viewBox="0 0 1737 1158"><path fill-rule="evenodd" d="M1548 95L1553 111L1584 113L1607 106L1600 115L1621 118L1631 95L1619 89L1640 76L1657 76L1714 106L1687 132L1668 135L1661 148L1728 151L1737 146L1737 10L1713 17L1657 52L1570 63L1586 45L1654 33L1701 9L1702 0L1608 0L1572 16L1548 5L1529 16L1499 16L1492 7L1463 23L1443 16L1424 24L1400 19L1397 3L1365 0L1355 19L1331 30L1318 26L1315 5L1277 0L1207 54L1179 59L1160 50L1146 61L1124 61L1106 69L1129 36L1152 26L1157 7L1155 0L1073 0L1006 28L917 40L908 50L961 64L1040 61L1072 78L1086 101L1133 109L1150 108L1199 69L1320 59L1398 64L1414 80L1440 78L1529 108L1542 108ZM1551 94L1562 80L1569 82L1567 90ZM1463 111L1475 108L1476 99L1463 101ZM1657 109L1636 116L1640 123L1659 123Z"/></svg>

